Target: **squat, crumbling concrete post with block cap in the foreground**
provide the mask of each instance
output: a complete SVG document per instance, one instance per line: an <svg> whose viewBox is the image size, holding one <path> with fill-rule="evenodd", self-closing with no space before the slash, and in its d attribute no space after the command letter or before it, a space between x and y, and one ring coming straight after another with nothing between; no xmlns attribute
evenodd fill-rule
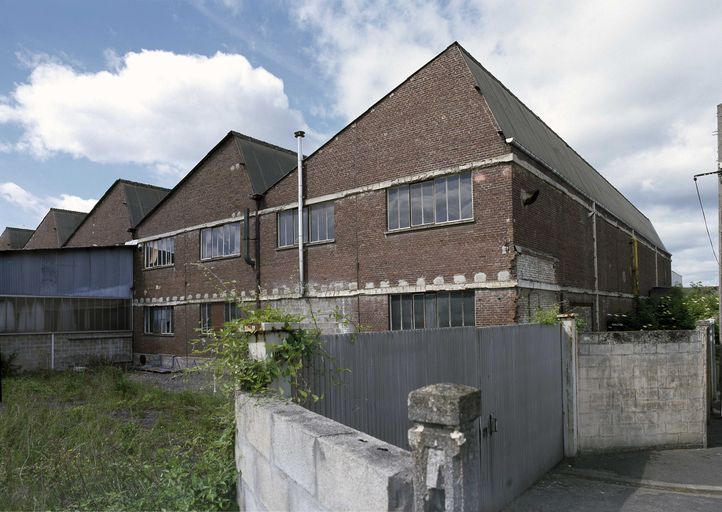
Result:
<svg viewBox="0 0 722 512"><path fill-rule="evenodd" d="M481 509L481 392L432 384L409 393L414 511Z"/></svg>

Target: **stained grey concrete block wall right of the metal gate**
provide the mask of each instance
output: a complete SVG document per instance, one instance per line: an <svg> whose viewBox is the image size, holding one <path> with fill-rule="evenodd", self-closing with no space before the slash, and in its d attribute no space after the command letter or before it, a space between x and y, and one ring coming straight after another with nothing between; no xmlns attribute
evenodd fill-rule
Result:
<svg viewBox="0 0 722 512"><path fill-rule="evenodd" d="M706 349L699 332L582 334L579 450L705 446Z"/></svg>

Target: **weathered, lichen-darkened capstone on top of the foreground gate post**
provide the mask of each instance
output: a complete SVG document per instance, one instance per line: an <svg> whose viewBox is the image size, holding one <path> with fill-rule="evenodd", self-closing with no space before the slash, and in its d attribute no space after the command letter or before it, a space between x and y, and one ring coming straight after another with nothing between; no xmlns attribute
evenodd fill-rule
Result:
<svg viewBox="0 0 722 512"><path fill-rule="evenodd" d="M481 412L481 392L462 384L432 384L409 393L409 420L461 425Z"/></svg>

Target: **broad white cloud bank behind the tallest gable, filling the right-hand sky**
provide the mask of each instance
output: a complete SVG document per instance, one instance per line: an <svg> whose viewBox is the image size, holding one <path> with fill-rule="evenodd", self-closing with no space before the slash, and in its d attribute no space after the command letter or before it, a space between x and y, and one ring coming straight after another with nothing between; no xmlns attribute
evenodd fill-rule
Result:
<svg viewBox="0 0 722 512"><path fill-rule="evenodd" d="M307 0L294 15L346 121L458 40L650 217L675 269L717 281L691 177L714 169L718 1ZM700 185L716 236L716 182Z"/></svg>

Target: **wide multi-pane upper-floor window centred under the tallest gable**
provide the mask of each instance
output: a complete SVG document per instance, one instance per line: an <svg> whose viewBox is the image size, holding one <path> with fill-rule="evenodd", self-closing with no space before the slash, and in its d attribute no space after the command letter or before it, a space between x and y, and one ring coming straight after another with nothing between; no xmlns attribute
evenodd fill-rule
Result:
<svg viewBox="0 0 722 512"><path fill-rule="evenodd" d="M388 189L389 230L473 218L471 172Z"/></svg>

